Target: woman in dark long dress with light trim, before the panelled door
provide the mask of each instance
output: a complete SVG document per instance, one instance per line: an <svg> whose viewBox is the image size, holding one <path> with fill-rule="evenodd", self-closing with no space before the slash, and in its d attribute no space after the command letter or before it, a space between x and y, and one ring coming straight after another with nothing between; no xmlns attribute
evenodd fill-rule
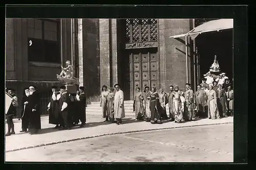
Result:
<svg viewBox="0 0 256 170"><path fill-rule="evenodd" d="M152 93L150 94L150 110L151 110L151 124L161 124L161 116L159 112L160 103L159 95L156 92L156 87L151 88Z"/></svg>

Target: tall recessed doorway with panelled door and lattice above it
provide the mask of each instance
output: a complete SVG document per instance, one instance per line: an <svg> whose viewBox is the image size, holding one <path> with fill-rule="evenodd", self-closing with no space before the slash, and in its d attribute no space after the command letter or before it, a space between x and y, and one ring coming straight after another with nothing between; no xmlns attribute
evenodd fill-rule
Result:
<svg viewBox="0 0 256 170"><path fill-rule="evenodd" d="M141 91L144 86L160 86L158 20L122 19L119 24L119 82L124 100L133 100L137 86Z"/></svg>

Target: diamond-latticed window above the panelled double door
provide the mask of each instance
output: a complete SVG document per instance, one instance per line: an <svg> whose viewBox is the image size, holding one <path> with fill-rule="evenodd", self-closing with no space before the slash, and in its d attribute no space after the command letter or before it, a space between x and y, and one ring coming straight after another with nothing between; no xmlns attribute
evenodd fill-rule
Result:
<svg viewBox="0 0 256 170"><path fill-rule="evenodd" d="M157 19L126 19L126 43L157 40Z"/></svg>

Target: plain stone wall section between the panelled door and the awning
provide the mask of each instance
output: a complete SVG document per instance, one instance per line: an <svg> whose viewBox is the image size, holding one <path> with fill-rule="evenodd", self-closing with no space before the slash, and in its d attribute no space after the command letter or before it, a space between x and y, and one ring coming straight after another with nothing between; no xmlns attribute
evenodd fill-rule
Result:
<svg viewBox="0 0 256 170"><path fill-rule="evenodd" d="M180 41L169 36L190 31L190 19L159 19L159 54L161 88L169 91L170 85L184 90L186 82L185 38ZM188 45L190 41L188 39ZM190 46L188 46L188 83L191 83Z"/></svg>

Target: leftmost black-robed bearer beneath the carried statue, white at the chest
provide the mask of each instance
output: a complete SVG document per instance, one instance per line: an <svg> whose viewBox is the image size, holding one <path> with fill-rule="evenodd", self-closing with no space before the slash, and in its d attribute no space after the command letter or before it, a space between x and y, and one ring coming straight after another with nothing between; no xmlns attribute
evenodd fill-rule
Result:
<svg viewBox="0 0 256 170"><path fill-rule="evenodd" d="M52 97L48 104L49 111L49 124L56 125L54 128L57 129L60 127L60 114L59 114L59 99L60 93L57 91L57 86L52 86Z"/></svg>

